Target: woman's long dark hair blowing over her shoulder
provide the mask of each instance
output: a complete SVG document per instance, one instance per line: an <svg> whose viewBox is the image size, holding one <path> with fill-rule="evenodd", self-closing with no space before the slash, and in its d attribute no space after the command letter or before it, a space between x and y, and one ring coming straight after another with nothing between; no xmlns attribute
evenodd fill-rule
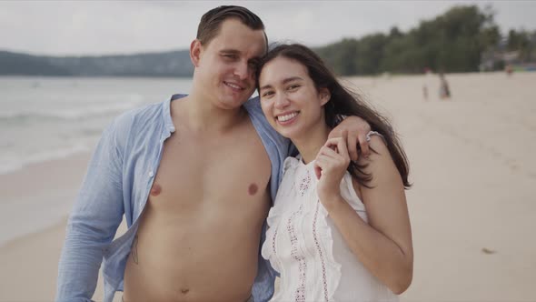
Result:
<svg viewBox="0 0 536 302"><path fill-rule="evenodd" d="M295 60L304 65L309 72L309 76L313 79L316 89L319 90L325 87L330 91L332 97L324 105L325 121L328 126L331 128L337 126L341 120L341 116L359 116L369 123L372 131L382 134L392 160L402 176L404 187L409 188L412 186L408 182L408 159L389 121L370 106L367 106L362 101L361 96L343 87L333 72L323 63L320 56L316 55L307 46L299 44L278 45L264 55L256 71L257 89L259 88L259 76L263 70L263 65L278 56ZM372 152L375 151L372 149ZM365 167L366 165L362 166L350 162L348 172L350 172L360 185L370 187L368 184L372 180L372 175L364 172Z"/></svg>

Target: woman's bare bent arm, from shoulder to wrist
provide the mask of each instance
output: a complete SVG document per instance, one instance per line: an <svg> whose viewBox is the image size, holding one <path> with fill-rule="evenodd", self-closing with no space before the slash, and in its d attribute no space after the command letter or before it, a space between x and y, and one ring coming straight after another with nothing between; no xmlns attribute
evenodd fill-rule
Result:
<svg viewBox="0 0 536 302"><path fill-rule="evenodd" d="M372 174L372 188L354 183L369 223L362 220L340 192L336 195L333 189L321 188L320 182L319 197L353 254L392 292L401 294L410 286L413 270L412 231L402 177L382 138L372 136L370 144L377 153L369 158L362 156L359 164L368 164L365 172ZM338 146L337 154L343 153L342 147Z"/></svg>

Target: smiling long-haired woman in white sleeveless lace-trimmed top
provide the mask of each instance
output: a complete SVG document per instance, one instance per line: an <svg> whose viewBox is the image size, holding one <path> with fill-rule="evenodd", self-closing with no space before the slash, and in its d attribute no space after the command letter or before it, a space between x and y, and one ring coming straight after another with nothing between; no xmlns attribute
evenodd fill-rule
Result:
<svg viewBox="0 0 536 302"><path fill-rule="evenodd" d="M413 252L408 164L392 127L303 45L274 48L257 79L264 115L300 152L284 162L262 249L281 275L273 301L396 301ZM338 116L371 125L369 158L351 162L342 137L327 139Z"/></svg>

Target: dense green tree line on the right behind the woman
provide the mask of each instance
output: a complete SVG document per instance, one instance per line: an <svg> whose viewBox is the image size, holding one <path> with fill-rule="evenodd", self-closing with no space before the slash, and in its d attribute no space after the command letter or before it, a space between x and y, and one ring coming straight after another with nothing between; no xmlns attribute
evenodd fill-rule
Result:
<svg viewBox="0 0 536 302"><path fill-rule="evenodd" d="M491 7L454 6L407 33L392 27L387 35L346 38L315 51L341 76L415 74L426 68L434 72L474 72L481 65L481 54L500 49L505 38L504 50L519 50L522 59L535 59L536 31L511 30L503 37L493 15Z"/></svg>

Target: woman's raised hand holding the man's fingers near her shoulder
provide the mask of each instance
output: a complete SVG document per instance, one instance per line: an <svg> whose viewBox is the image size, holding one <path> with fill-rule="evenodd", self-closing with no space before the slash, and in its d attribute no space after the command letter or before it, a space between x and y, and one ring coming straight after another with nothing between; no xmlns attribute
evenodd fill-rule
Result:
<svg viewBox="0 0 536 302"><path fill-rule="evenodd" d="M324 207L329 208L343 200L341 181L349 164L345 132L342 137L328 139L318 152L313 166L319 179L316 193Z"/></svg>

